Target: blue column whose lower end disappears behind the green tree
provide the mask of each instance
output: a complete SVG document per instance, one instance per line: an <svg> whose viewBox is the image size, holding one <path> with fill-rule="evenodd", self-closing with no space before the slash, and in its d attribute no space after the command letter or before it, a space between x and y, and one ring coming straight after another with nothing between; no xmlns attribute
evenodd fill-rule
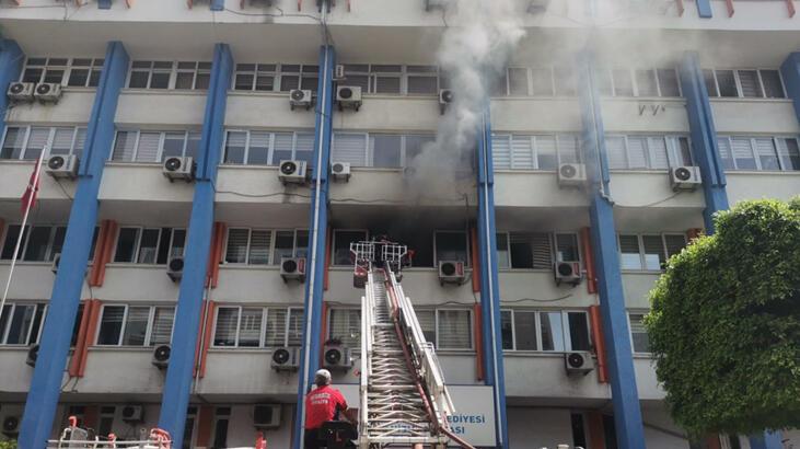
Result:
<svg viewBox="0 0 800 449"><path fill-rule="evenodd" d="M686 99L686 113L692 138L692 153L700 168L706 209L703 219L706 232L714 233L714 214L728 209L724 166L719 157L717 127L708 100L706 81L700 69L699 56L687 51L681 64L681 87Z"/></svg>

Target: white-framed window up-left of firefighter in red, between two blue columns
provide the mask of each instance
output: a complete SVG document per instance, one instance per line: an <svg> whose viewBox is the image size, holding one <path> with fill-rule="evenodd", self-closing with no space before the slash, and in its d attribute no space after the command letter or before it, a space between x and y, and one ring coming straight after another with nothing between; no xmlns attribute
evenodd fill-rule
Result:
<svg viewBox="0 0 800 449"><path fill-rule="evenodd" d="M215 321L213 346L300 346L302 316L302 310L294 308L220 307Z"/></svg>

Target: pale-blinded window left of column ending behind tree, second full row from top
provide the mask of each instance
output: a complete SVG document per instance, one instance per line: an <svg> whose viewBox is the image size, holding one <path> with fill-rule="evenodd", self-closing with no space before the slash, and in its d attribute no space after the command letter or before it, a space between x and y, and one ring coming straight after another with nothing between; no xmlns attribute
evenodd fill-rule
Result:
<svg viewBox="0 0 800 449"><path fill-rule="evenodd" d="M693 164L686 137L607 136L605 151L612 170L666 170Z"/></svg>

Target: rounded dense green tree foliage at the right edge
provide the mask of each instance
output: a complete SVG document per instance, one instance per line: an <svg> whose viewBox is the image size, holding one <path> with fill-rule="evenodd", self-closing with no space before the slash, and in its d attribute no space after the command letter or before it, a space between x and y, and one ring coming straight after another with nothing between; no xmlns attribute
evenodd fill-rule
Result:
<svg viewBox="0 0 800 449"><path fill-rule="evenodd" d="M800 427L800 197L738 204L672 257L645 320L692 435Z"/></svg>

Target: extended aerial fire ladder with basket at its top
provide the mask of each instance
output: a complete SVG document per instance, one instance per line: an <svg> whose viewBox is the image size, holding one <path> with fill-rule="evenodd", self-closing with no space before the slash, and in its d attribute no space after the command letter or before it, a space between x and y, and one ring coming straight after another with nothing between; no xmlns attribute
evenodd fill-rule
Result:
<svg viewBox="0 0 800 449"><path fill-rule="evenodd" d="M359 448L473 449L450 428L454 407L439 359L399 284L407 247L363 241L350 252L353 285L364 288Z"/></svg>

